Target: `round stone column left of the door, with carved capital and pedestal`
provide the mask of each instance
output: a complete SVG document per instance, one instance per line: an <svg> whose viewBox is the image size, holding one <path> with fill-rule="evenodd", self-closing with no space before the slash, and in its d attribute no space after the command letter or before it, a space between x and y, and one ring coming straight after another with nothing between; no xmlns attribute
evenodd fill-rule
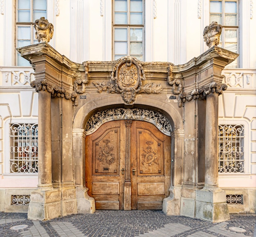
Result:
<svg viewBox="0 0 256 237"><path fill-rule="evenodd" d="M46 79L31 82L38 92L38 188L31 192L28 219L47 220L61 215L61 193L52 187L51 93Z"/></svg>

